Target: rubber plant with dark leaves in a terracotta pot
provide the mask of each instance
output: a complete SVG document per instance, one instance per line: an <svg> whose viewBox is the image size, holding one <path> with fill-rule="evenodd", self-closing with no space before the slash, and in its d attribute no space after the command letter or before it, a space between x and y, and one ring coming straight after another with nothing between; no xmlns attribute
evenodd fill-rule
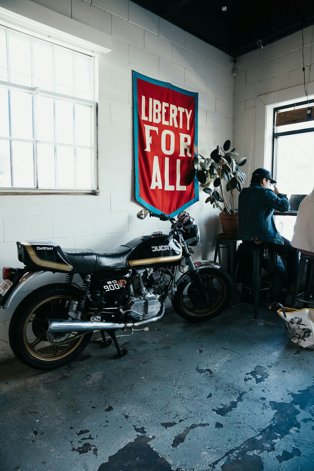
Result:
<svg viewBox="0 0 314 471"><path fill-rule="evenodd" d="M219 218L223 232L226 236L233 237L238 235L235 190L239 192L242 190L246 175L240 170L240 167L246 163L247 159L242 157L235 160L239 154L235 152L235 149L229 150L230 147L230 140L226 140L223 147L218 144L210 154L210 158L205 158L198 153L198 148L194 144L195 156L191 183L196 176L204 186L203 191L209 195L205 203L210 203L221 211ZM213 189L209 188L211 183L213 183Z"/></svg>

